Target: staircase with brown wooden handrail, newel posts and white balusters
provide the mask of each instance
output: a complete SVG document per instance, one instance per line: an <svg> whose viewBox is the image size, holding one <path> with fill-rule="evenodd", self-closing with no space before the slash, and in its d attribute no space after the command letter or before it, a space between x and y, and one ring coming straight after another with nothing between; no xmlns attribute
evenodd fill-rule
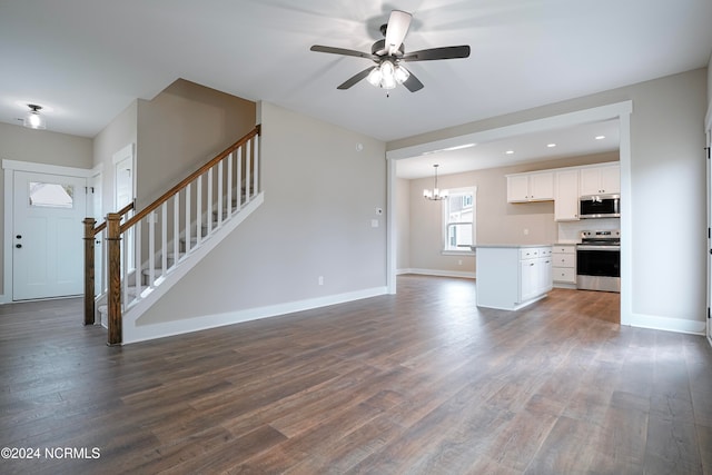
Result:
<svg viewBox="0 0 712 475"><path fill-rule="evenodd" d="M140 339L137 319L261 205L259 136L257 126L142 210L85 219L85 325L99 320L109 345ZM99 238L108 246L97 296Z"/></svg>

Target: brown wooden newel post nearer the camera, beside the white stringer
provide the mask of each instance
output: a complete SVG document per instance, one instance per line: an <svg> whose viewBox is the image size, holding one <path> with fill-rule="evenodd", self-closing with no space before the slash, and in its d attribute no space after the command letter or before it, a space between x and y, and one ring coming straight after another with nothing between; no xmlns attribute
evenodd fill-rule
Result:
<svg viewBox="0 0 712 475"><path fill-rule="evenodd" d="M123 336L121 329L121 215L107 215L107 244L109 261L109 340L108 345L120 345Z"/></svg>

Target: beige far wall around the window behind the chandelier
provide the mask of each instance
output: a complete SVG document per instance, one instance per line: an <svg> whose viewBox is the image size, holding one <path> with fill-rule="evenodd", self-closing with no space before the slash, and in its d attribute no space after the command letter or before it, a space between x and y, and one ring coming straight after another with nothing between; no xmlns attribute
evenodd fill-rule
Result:
<svg viewBox="0 0 712 475"><path fill-rule="evenodd" d="M596 154L557 160L491 168L455 175L441 175L439 186L445 189L477 187L476 241L477 244L552 244L558 239L554 221L554 202L508 204L506 175L545 170L578 165L617 161L617 152ZM411 269L434 273L474 273L473 256L442 255L442 205L423 199L423 189L432 186L432 178L398 180L399 187L409 188L407 212L411 228ZM400 198L400 191L397 196ZM398 206L398 210L403 209ZM398 227L400 220L397 220ZM524 230L528 234L524 234ZM398 229L398 232L402 232ZM462 264L459 264L462 261ZM398 266L398 269L405 269Z"/></svg>

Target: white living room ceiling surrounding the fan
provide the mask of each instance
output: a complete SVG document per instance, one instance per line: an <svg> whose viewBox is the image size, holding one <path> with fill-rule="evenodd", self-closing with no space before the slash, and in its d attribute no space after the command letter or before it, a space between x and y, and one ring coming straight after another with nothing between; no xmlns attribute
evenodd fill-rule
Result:
<svg viewBox="0 0 712 475"><path fill-rule="evenodd" d="M471 57L409 63L418 92L337 90L369 60L309 47L368 51L393 9L406 51ZM0 0L0 121L32 102L93 137L184 78L388 141L704 67L711 24L710 0Z"/></svg>

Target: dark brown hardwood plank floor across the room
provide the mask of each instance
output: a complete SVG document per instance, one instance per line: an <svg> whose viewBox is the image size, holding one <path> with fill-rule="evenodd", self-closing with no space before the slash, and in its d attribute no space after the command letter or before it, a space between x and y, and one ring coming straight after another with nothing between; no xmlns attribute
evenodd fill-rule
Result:
<svg viewBox="0 0 712 475"><path fill-rule="evenodd" d="M398 290L126 347L77 299L0 306L0 446L40 449L0 473L712 474L705 338L615 294Z"/></svg>

